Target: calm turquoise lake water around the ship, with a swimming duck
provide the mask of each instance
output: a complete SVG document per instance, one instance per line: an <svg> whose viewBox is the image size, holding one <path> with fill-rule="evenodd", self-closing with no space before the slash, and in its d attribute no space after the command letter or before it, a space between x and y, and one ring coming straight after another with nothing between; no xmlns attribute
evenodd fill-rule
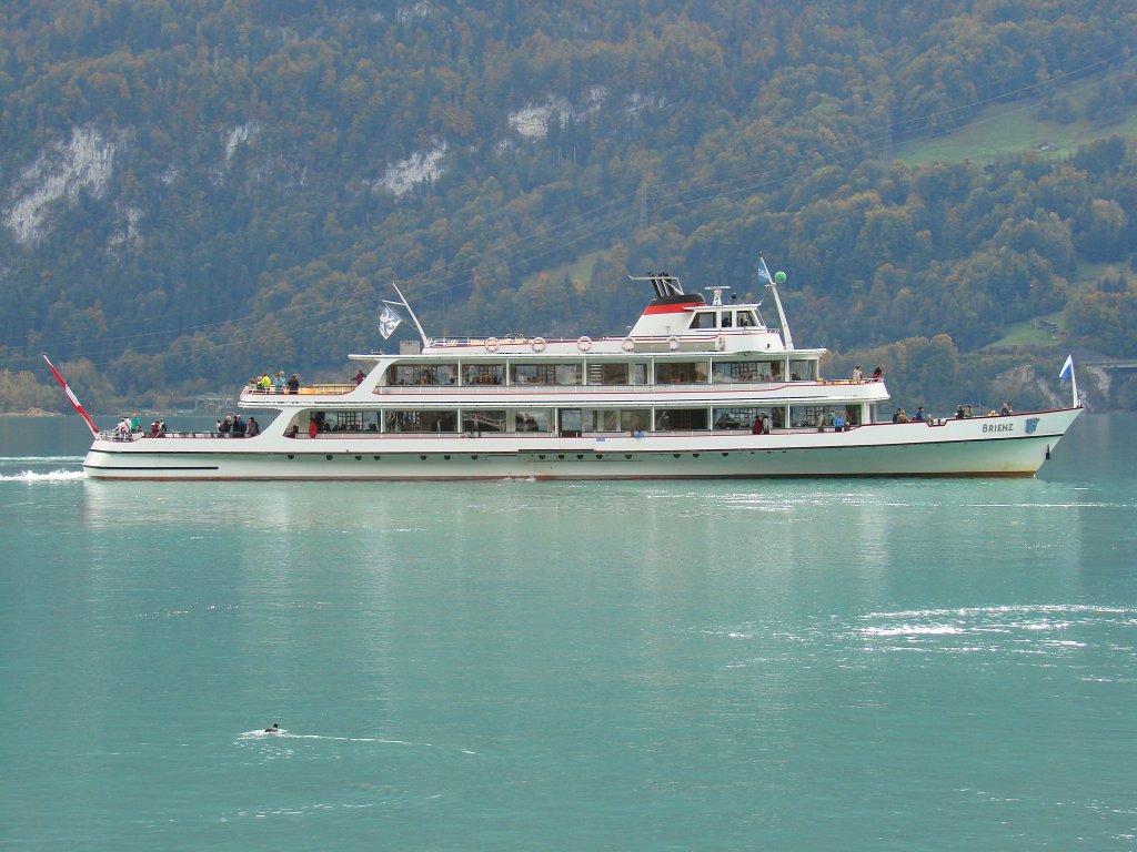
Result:
<svg viewBox="0 0 1137 852"><path fill-rule="evenodd" d="M0 847L1131 849L1135 427L1032 479L131 484L0 419Z"/></svg>

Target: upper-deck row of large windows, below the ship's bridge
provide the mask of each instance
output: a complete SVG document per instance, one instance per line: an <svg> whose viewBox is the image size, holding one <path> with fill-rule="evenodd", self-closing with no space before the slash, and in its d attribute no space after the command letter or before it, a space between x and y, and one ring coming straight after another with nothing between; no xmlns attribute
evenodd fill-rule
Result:
<svg viewBox="0 0 1137 852"><path fill-rule="evenodd" d="M646 385L730 384L738 382L815 382L818 362L659 361L652 376L647 361L614 364L398 364L387 371L388 385ZM508 381L507 381L508 378ZM460 379L460 381L459 381Z"/></svg>

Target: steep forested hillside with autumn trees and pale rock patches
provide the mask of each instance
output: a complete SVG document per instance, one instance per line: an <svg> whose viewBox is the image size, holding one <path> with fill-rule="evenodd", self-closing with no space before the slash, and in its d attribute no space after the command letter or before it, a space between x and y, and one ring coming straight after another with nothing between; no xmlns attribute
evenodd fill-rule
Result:
<svg viewBox="0 0 1137 852"><path fill-rule="evenodd" d="M620 333L626 275L760 251L835 370L1044 404L1137 356L1135 45L1131 0L10 0L0 410L63 406L41 352L101 410L335 377L391 282L429 333ZM1023 112L1081 143L897 154Z"/></svg>

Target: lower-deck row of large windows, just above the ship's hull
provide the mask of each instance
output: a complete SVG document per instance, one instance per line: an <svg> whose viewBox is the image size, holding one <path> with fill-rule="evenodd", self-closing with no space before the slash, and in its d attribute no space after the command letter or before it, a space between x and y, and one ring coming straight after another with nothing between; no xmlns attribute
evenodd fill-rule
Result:
<svg viewBox="0 0 1137 852"><path fill-rule="evenodd" d="M298 419L297 432L384 434L481 434L538 432L561 434L616 432L707 432L765 428L818 428L840 416L849 426L861 423L861 406L772 406L729 408L508 408L464 410L312 411ZM764 419L764 423L762 420Z"/></svg>

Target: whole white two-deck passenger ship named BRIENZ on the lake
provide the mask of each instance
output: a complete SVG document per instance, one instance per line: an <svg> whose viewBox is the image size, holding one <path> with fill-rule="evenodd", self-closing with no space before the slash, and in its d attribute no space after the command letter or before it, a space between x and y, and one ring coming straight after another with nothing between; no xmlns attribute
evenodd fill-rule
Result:
<svg viewBox="0 0 1137 852"><path fill-rule="evenodd" d="M1068 409L891 423L883 379L822 378L825 350L794 345L785 275L762 262L758 276L779 327L725 286L705 298L653 274L632 278L653 298L631 331L597 340L430 339L396 287L384 317L405 309L421 340L349 356L358 383L250 383L240 407L275 411L260 434L101 432L83 467L105 479L1031 476L1081 412L1074 386Z"/></svg>

